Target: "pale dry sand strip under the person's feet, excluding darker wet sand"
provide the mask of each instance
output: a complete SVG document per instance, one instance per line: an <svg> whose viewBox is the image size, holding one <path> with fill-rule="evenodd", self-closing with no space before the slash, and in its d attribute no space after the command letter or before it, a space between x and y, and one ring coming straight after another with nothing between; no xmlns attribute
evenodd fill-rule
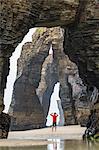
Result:
<svg viewBox="0 0 99 150"><path fill-rule="evenodd" d="M59 139L82 139L82 135L85 131L85 127L75 126L64 126L57 127L56 132L50 128L27 130L27 131L16 131L9 132L8 139L40 139L46 140L50 138Z"/></svg>

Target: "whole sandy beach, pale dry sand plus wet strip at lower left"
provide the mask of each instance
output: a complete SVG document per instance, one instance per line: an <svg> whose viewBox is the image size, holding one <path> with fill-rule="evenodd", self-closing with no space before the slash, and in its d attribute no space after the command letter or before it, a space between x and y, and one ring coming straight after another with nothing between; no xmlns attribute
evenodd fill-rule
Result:
<svg viewBox="0 0 99 150"><path fill-rule="evenodd" d="M57 127L56 132L52 132L51 127L9 132L8 139L0 140L0 146L47 145L50 139L81 140L85 129L77 125Z"/></svg>

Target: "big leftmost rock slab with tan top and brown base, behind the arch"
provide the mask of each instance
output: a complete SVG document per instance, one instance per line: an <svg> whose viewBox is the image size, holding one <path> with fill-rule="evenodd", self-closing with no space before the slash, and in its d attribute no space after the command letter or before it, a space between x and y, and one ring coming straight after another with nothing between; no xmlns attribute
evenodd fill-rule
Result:
<svg viewBox="0 0 99 150"><path fill-rule="evenodd" d="M45 29L37 30L37 34L33 36L33 42L24 46L22 59L18 61L20 67L14 86L12 109L10 108L12 130L45 126L43 108L36 94L36 88L39 85L42 64L48 55L47 37ZM19 91L21 91L20 94Z"/></svg>

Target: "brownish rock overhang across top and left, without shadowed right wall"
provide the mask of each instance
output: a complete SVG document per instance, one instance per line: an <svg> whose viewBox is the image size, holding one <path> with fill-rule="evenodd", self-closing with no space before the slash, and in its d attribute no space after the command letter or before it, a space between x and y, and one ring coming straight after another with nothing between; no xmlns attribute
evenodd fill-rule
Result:
<svg viewBox="0 0 99 150"><path fill-rule="evenodd" d="M0 0L0 101L9 72L9 57L35 26L65 25L74 21L78 0Z"/></svg>

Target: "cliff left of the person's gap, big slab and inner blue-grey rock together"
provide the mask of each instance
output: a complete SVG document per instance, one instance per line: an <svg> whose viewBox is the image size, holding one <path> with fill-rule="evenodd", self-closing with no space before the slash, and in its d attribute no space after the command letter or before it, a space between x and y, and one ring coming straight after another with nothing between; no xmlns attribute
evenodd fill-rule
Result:
<svg viewBox="0 0 99 150"><path fill-rule="evenodd" d="M32 43L24 45L21 58L18 60L19 69L14 86L13 100L9 110L12 116L12 130L38 128L46 124L46 117L50 105L49 100L54 85L57 82L57 76L55 76L54 72L55 65L53 65L53 56L49 55L51 38L48 30L47 28L37 29L33 35ZM31 87L28 87L28 91L24 93L24 89L28 85ZM24 87L24 89L22 87ZM20 90L21 92L19 94ZM34 93L33 90L35 91ZM24 98L26 100L24 100ZM35 103L37 103L38 106L36 106ZM31 105L31 110L29 105ZM40 111L41 109L42 111ZM20 111L23 111L23 114L21 113L21 115L19 115ZM28 111L30 111L30 115L27 116L25 114L27 114ZM19 118L20 120L23 118L24 121L19 121ZM26 118L28 118L28 121ZM38 122L38 124L35 122ZM40 122L42 122L42 125ZM32 125L30 126L30 124Z"/></svg>

